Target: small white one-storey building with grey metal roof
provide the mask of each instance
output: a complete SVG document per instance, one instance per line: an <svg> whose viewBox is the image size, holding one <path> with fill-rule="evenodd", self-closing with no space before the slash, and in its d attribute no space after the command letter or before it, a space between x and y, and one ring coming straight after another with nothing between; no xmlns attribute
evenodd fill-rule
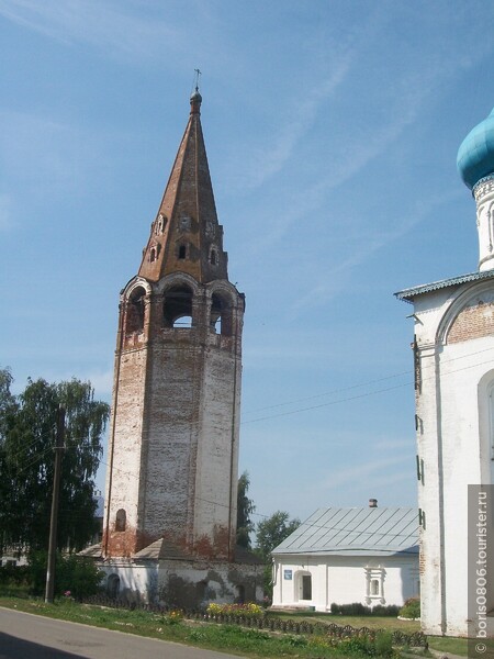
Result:
<svg viewBox="0 0 494 659"><path fill-rule="evenodd" d="M272 551L274 608L403 605L418 595L417 510L318 509Z"/></svg>

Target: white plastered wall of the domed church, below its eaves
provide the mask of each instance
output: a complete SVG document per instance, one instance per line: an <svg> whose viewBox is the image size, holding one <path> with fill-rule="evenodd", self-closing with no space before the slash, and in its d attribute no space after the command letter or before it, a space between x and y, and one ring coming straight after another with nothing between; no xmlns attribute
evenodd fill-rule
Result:
<svg viewBox="0 0 494 659"><path fill-rule="evenodd" d="M491 369L494 347L492 335L475 337L492 309L481 300L478 311L471 299L492 297L492 282L465 284L420 295L415 304L422 621L427 634L468 632L467 494L469 484L492 482L489 437L480 439L479 411L489 403L479 398L479 383ZM470 317L454 326L465 305Z"/></svg>

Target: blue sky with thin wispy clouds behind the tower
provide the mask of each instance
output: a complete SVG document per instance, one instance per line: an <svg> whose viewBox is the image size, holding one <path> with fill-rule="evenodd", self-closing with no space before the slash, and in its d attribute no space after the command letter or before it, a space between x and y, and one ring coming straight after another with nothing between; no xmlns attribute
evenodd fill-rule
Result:
<svg viewBox="0 0 494 659"><path fill-rule="evenodd" d="M0 365L16 391L75 376L110 400L119 291L199 67L247 298L257 513L416 505L413 310L393 292L476 269L456 156L494 105L493 29L474 0L0 0Z"/></svg>

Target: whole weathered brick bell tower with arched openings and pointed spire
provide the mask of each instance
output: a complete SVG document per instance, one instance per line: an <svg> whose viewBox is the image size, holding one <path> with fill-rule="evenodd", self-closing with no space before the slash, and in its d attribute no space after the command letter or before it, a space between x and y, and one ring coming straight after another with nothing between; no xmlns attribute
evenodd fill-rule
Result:
<svg viewBox="0 0 494 659"><path fill-rule="evenodd" d="M121 292L102 554L164 539L233 560L245 298L228 281L198 88L138 273Z"/></svg>

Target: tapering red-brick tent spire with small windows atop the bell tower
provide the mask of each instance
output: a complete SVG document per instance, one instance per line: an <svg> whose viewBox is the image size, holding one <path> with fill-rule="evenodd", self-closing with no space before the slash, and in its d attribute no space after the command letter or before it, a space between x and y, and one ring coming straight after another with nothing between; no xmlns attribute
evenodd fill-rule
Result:
<svg viewBox="0 0 494 659"><path fill-rule="evenodd" d="M150 281L177 271L202 283L228 278L201 127L201 102L195 88L189 122L138 272Z"/></svg>

